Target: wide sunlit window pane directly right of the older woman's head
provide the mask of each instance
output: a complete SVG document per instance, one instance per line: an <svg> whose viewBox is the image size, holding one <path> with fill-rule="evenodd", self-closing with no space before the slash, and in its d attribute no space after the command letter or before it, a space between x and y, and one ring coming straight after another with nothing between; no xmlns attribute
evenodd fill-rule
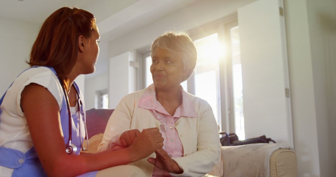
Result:
<svg viewBox="0 0 336 177"><path fill-rule="evenodd" d="M195 95L206 100L215 115L217 124L220 118L219 88L219 44L218 34L195 40L197 64L195 68Z"/></svg>

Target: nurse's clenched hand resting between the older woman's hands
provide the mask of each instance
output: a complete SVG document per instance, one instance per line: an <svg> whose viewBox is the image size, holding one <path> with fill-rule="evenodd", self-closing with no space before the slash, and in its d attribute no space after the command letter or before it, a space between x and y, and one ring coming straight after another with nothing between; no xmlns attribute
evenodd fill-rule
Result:
<svg viewBox="0 0 336 177"><path fill-rule="evenodd" d="M140 159L148 157L157 149L162 148L163 137L159 132L159 128L143 129L129 146L134 155Z"/></svg>

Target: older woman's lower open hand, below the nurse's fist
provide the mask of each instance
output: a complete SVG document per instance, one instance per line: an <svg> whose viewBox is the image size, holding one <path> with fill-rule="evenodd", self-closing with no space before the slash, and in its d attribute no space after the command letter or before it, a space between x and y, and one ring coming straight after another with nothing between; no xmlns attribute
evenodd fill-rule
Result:
<svg viewBox="0 0 336 177"><path fill-rule="evenodd" d="M176 162L171 159L168 153L162 148L155 151L156 158L148 158L147 161L159 169L165 170L170 173L181 174L183 171L176 164ZM165 174L168 175L168 174Z"/></svg>

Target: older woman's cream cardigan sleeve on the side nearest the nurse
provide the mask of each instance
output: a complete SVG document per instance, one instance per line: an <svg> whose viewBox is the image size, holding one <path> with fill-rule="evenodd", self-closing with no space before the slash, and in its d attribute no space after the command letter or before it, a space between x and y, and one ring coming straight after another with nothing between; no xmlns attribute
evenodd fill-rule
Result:
<svg viewBox="0 0 336 177"><path fill-rule="evenodd" d="M127 97L127 96L126 96ZM120 135L130 130L134 104L127 103L124 97L113 111L97 152L106 151L120 145Z"/></svg>

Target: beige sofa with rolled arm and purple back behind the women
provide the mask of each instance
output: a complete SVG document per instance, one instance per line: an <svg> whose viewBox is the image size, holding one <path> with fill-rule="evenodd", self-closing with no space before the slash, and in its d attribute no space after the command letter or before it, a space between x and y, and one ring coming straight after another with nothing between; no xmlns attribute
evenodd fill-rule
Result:
<svg viewBox="0 0 336 177"><path fill-rule="evenodd" d="M86 111L89 153L97 152L113 111L113 109L90 109ZM295 152L287 144L257 143L221 146L220 153L220 162L209 175L218 177L298 176Z"/></svg>

